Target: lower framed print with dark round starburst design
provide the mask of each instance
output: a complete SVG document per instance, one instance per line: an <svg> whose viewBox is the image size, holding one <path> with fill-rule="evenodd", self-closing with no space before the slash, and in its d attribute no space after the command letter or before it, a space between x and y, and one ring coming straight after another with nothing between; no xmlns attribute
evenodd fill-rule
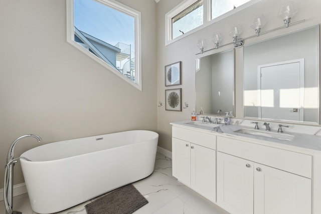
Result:
<svg viewBox="0 0 321 214"><path fill-rule="evenodd" d="M168 111L182 111L182 89L165 90L166 106Z"/></svg>

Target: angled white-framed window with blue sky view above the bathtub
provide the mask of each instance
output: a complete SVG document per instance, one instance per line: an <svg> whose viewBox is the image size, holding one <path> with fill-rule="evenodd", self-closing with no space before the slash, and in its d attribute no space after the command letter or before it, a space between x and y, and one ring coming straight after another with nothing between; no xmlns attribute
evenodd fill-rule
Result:
<svg viewBox="0 0 321 214"><path fill-rule="evenodd" d="M141 90L140 13L113 0L68 0L67 41Z"/></svg>

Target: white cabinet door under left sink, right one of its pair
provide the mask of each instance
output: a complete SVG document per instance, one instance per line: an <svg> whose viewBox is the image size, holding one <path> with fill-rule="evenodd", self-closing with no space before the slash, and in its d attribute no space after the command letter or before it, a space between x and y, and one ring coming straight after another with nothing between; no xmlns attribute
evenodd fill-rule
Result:
<svg viewBox="0 0 321 214"><path fill-rule="evenodd" d="M191 143L191 187L216 201L215 150Z"/></svg>

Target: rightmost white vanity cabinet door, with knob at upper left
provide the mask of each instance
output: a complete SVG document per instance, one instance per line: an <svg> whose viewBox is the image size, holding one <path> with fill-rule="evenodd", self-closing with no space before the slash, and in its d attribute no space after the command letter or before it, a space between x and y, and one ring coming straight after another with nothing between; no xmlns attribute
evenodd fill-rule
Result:
<svg viewBox="0 0 321 214"><path fill-rule="evenodd" d="M255 214L311 213L311 179L255 163Z"/></svg>

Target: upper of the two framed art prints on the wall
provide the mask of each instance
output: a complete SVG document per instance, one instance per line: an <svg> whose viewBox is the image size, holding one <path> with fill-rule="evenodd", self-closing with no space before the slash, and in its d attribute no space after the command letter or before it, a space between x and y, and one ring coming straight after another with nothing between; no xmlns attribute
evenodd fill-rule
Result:
<svg viewBox="0 0 321 214"><path fill-rule="evenodd" d="M165 86L181 85L181 61L165 66Z"/></svg>

